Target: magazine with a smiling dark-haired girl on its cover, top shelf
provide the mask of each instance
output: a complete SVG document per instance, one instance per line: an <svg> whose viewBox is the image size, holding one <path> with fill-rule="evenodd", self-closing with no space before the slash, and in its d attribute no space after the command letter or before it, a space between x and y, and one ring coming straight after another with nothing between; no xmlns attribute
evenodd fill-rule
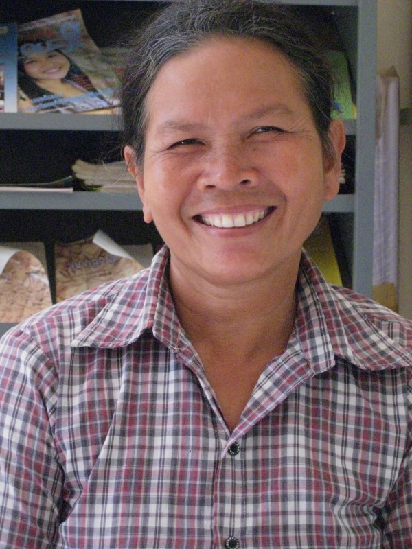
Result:
<svg viewBox="0 0 412 549"><path fill-rule="evenodd" d="M80 9L18 25L19 111L112 112L119 78L84 25Z"/></svg>

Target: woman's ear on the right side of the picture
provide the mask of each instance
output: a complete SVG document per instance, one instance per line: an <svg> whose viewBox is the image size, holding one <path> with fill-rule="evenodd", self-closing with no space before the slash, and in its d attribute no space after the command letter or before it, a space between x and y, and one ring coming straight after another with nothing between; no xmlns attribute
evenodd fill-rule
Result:
<svg viewBox="0 0 412 549"><path fill-rule="evenodd" d="M339 178L341 176L341 159L345 148L346 135L343 121L334 119L330 122L329 139L331 151L325 153L324 177L325 200L332 200L339 192Z"/></svg>

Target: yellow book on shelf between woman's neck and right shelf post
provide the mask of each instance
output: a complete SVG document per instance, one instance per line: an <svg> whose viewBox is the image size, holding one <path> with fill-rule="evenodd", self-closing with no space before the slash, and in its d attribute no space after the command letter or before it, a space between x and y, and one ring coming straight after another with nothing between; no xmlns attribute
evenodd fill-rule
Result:
<svg viewBox="0 0 412 549"><path fill-rule="evenodd" d="M343 285L329 220L322 215L316 229L304 243L304 248L330 284Z"/></svg>

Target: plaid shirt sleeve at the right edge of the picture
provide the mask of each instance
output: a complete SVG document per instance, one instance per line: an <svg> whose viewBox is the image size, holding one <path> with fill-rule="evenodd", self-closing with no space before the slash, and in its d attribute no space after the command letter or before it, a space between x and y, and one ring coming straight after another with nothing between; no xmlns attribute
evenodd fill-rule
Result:
<svg viewBox="0 0 412 549"><path fill-rule="evenodd" d="M383 549L410 549L412 547L412 380L408 393L409 436L398 482L391 492L383 519Z"/></svg>

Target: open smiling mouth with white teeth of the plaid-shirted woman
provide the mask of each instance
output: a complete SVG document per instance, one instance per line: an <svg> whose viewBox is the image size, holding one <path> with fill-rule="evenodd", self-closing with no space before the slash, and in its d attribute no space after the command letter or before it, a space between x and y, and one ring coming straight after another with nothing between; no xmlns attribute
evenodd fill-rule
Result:
<svg viewBox="0 0 412 549"><path fill-rule="evenodd" d="M248 229L263 222L275 211L275 206L269 207L251 207L248 209L231 209L207 211L194 215L196 223L217 229L219 231L228 229Z"/></svg>

